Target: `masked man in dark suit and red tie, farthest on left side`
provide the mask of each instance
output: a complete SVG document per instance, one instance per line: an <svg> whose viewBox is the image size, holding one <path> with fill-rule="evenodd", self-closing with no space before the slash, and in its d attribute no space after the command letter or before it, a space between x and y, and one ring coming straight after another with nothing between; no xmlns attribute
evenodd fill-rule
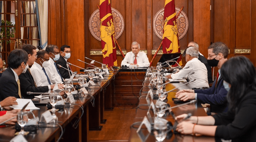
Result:
<svg viewBox="0 0 256 142"><path fill-rule="evenodd" d="M56 64L60 64L62 67L69 69L72 71L70 65L68 65L67 67L67 63L68 63L68 59L71 56L71 51L70 51L70 46L68 45L62 45L60 47L60 59L56 61ZM60 75L62 76L62 78L70 78L69 76L69 71L60 68L59 66L57 66L59 71L60 71ZM70 74L72 74L72 72L70 72Z"/></svg>

